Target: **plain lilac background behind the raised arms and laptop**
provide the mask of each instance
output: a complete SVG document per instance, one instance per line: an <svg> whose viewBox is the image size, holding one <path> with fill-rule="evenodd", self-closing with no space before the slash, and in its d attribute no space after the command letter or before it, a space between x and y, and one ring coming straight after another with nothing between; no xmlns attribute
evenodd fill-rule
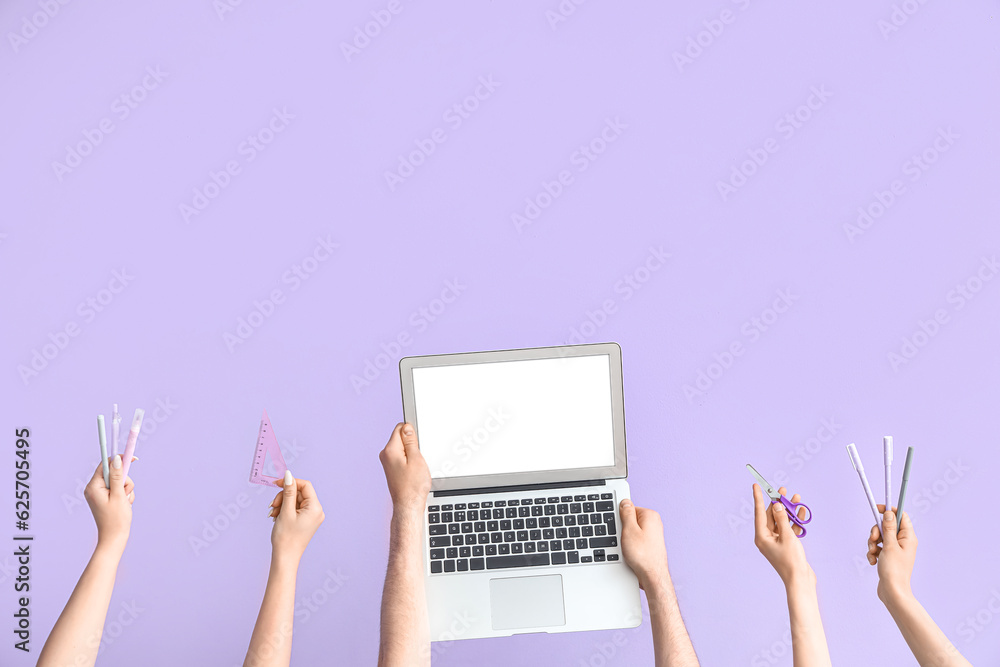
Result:
<svg viewBox="0 0 1000 667"><path fill-rule="evenodd" d="M78 485L98 460L94 416L118 401L126 425L145 407L148 429L100 663L241 662L269 557L267 500L246 481L266 408L327 510L298 597L328 570L348 577L297 616L293 662L373 664L390 513L376 452L401 417L401 354L390 347L360 392L351 376L406 333L402 354L621 344L634 498L664 516L706 665L791 664L783 591L741 514L748 461L784 471L816 513L806 548L834 663L912 664L863 560L872 520L843 447L858 443L881 495L881 436L896 438L897 486L916 446L914 589L973 663L994 664L1000 620L982 610L1000 591L1000 281L961 309L948 295L1000 246L996 3L912 2L883 36L889 0L589 2L555 27L555 0L403 1L348 61L341 42L386 4L245 0L220 18L210 0L73 2L17 45L10 33L41 10L0 7L0 391L7 451L15 426L33 433L33 648L90 556ZM679 68L674 52L723 10L733 21ZM112 101L146 67L166 78L121 120ZM489 76L495 92L448 125ZM832 97L783 136L775 123L814 86ZM238 146L274 108L294 119L248 161ZM114 131L60 181L53 161L105 117ZM574 152L608 118L627 127L578 171ZM390 191L384 172L435 128L446 141ZM910 180L904 163L948 128L953 145ZM723 201L717 182L769 137L777 152ZM228 160L241 172L186 223L179 206ZM512 214L564 169L573 183L518 231ZM894 179L905 193L849 240L844 225ZM282 276L317 237L339 248L292 290ZM651 246L671 258L647 276ZM78 304L123 267L128 287L86 321ZM626 298L616 285L637 270L648 280ZM420 330L411 314L449 280L464 291ZM224 334L275 288L284 303L230 352ZM781 289L793 306L751 341L741 328ZM615 312L584 325L609 299ZM947 323L894 369L889 354L937 309ZM22 379L69 322L79 335ZM684 385L733 341L745 353L688 400ZM149 422L158 401L171 414ZM837 432L810 442L823 420ZM195 554L190 539L225 524L240 494L250 506ZM11 559L0 564L9 624ZM142 611L119 633L123 604ZM598 665L614 639L457 642L435 664ZM607 664L651 664L648 623L618 639ZM11 643L4 665L34 663Z"/></svg>

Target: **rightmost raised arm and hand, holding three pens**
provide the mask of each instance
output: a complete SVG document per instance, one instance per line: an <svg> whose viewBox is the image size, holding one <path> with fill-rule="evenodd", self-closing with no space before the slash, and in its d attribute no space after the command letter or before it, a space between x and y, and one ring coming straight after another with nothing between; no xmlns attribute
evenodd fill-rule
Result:
<svg viewBox="0 0 1000 667"><path fill-rule="evenodd" d="M972 667L958 649L948 641L927 610L917 601L910 588L910 576L917 556L917 535L910 517L903 512L900 528L896 530L896 514L885 511L882 526L885 539L878 526L872 526L868 537L868 562L878 564L878 597L896 621L913 657L921 667ZM882 546L878 542L882 541Z"/></svg>

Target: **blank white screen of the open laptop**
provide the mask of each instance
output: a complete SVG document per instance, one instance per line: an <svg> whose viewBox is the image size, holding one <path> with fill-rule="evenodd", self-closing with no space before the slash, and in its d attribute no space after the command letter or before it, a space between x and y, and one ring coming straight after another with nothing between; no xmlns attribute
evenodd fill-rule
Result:
<svg viewBox="0 0 1000 667"><path fill-rule="evenodd" d="M431 476L615 464L606 354L413 369Z"/></svg>

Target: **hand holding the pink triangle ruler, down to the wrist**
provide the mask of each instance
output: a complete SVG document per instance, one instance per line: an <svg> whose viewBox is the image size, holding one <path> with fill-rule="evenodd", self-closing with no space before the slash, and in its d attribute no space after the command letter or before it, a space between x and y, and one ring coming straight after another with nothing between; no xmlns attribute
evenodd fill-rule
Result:
<svg viewBox="0 0 1000 667"><path fill-rule="evenodd" d="M282 483L281 491L271 501L267 512L268 516L274 517L271 550L275 556L298 562L326 514L308 480L295 479L292 471L286 470Z"/></svg>

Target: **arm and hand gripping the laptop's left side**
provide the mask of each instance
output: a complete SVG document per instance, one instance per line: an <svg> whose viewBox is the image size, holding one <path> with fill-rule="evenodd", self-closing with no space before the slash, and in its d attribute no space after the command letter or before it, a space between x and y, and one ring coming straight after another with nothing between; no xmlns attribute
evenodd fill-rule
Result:
<svg viewBox="0 0 1000 667"><path fill-rule="evenodd" d="M423 570L423 513L431 475L409 424L397 424L379 454L392 496L389 566L382 589L379 667L430 665Z"/></svg>

